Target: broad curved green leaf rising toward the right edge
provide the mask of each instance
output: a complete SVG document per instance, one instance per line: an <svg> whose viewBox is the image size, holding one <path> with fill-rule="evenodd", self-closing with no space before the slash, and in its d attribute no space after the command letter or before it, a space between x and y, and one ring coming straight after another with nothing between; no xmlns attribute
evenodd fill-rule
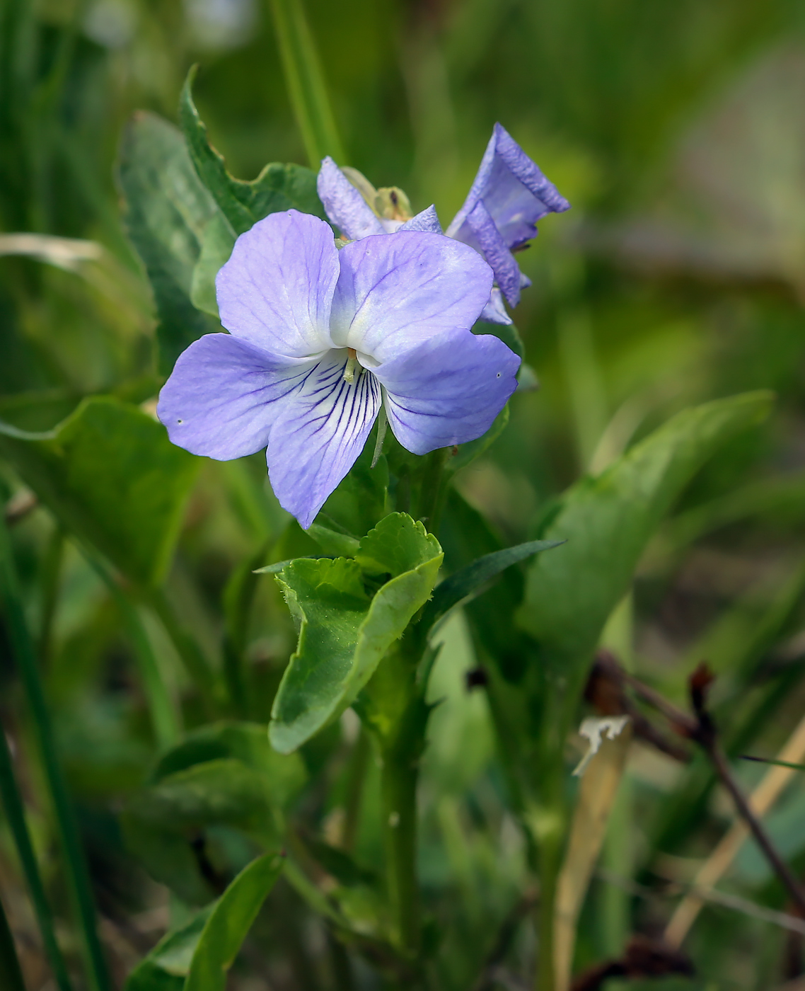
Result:
<svg viewBox="0 0 805 991"><path fill-rule="evenodd" d="M586 662L674 499L722 444L765 419L772 399L747 392L683 410L600 476L569 490L543 534L567 544L530 566L518 612L546 657Z"/></svg>

